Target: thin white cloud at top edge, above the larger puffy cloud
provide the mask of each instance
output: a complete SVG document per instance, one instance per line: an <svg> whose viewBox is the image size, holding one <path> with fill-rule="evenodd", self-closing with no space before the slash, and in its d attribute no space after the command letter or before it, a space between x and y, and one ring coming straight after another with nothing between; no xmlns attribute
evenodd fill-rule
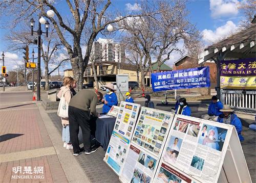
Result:
<svg viewBox="0 0 256 183"><path fill-rule="evenodd" d="M238 14L238 0L210 0L212 18L230 17Z"/></svg>

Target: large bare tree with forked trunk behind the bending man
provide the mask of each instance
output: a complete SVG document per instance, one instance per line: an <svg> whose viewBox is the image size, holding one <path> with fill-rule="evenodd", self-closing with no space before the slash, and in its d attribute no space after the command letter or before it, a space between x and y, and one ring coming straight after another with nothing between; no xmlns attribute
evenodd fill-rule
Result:
<svg viewBox="0 0 256 183"><path fill-rule="evenodd" d="M61 15L53 1L47 0L4 0L0 3L3 7L0 13L9 11L7 14L10 12L15 14L14 25L36 12L47 17L54 25L61 43L67 48L74 77L78 81L78 89L81 89L84 68L88 65L92 44L97 35L109 24L137 15L112 16L113 11L107 11L111 0L74 0L73 3L67 0L66 3L70 12L65 12L65 14L71 15L69 20ZM56 16L49 17L46 13L48 9L53 10ZM117 16L119 18L116 18ZM87 34L86 39L83 39L84 34ZM82 42L87 46L84 56L82 56Z"/></svg>

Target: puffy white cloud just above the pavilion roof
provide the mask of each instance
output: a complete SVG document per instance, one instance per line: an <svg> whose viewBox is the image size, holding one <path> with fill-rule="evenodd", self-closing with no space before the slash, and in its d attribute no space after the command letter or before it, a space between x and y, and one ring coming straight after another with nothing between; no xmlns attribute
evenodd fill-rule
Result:
<svg viewBox="0 0 256 183"><path fill-rule="evenodd" d="M203 30L202 31L203 40L205 41L206 44L211 44L211 43L220 41L221 39L224 39L237 31L238 31L237 25L229 20L226 22L225 25L218 27L215 31L212 31L209 29Z"/></svg>

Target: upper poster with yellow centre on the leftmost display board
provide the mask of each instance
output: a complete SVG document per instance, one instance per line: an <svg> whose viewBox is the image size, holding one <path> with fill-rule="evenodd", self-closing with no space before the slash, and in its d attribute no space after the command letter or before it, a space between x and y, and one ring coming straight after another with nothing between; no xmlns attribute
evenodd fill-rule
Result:
<svg viewBox="0 0 256 183"><path fill-rule="evenodd" d="M120 103L114 130L126 138L131 139L139 111L140 104L122 101Z"/></svg>

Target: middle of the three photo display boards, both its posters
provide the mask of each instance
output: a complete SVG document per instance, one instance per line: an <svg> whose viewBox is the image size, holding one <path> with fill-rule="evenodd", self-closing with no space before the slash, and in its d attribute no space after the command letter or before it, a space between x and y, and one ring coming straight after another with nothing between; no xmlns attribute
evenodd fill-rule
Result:
<svg viewBox="0 0 256 183"><path fill-rule="evenodd" d="M153 182L173 119L170 112L142 107L119 176L121 182Z"/></svg>

